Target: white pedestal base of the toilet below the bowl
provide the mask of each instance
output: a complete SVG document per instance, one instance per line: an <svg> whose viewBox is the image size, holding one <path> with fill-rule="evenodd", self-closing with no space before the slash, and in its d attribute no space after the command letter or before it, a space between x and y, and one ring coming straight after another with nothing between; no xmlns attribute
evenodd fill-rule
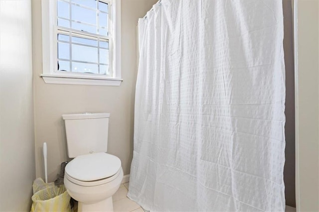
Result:
<svg viewBox="0 0 319 212"><path fill-rule="evenodd" d="M98 203L78 203L78 212L113 212L112 196Z"/></svg>

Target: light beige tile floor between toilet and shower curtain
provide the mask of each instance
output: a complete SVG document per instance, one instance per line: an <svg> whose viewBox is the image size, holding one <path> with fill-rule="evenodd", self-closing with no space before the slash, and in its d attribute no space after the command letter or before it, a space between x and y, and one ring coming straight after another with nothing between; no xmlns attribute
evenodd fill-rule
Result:
<svg viewBox="0 0 319 212"><path fill-rule="evenodd" d="M134 201L126 197L129 183L121 184L119 190L113 195L114 212L144 212L144 210Z"/></svg>

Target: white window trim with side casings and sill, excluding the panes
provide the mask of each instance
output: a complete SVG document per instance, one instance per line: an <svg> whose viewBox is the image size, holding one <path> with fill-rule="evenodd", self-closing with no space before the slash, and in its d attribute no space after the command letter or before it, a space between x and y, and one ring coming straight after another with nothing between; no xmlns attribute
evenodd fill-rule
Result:
<svg viewBox="0 0 319 212"><path fill-rule="evenodd" d="M97 86L120 86L121 78L121 1L112 0L113 33L113 56L112 68L114 78L98 74L55 72L57 64L57 39L54 38L54 23L56 22L56 1L42 0L42 74L40 75L48 84L68 84L68 85L97 85Z"/></svg>

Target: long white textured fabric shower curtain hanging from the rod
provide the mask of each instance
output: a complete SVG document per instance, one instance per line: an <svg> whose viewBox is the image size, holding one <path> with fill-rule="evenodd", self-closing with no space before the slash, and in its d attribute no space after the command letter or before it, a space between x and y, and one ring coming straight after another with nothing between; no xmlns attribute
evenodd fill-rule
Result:
<svg viewBox="0 0 319 212"><path fill-rule="evenodd" d="M139 20L128 197L150 211L284 211L280 0L162 0Z"/></svg>

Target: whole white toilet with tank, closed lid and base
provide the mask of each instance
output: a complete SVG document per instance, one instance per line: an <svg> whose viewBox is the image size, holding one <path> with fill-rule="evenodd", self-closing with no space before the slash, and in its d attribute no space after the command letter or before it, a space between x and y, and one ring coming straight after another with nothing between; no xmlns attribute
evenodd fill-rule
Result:
<svg viewBox="0 0 319 212"><path fill-rule="evenodd" d="M109 113L62 115L68 156L64 185L79 212L113 211L112 195L123 179L121 160L106 153Z"/></svg>

